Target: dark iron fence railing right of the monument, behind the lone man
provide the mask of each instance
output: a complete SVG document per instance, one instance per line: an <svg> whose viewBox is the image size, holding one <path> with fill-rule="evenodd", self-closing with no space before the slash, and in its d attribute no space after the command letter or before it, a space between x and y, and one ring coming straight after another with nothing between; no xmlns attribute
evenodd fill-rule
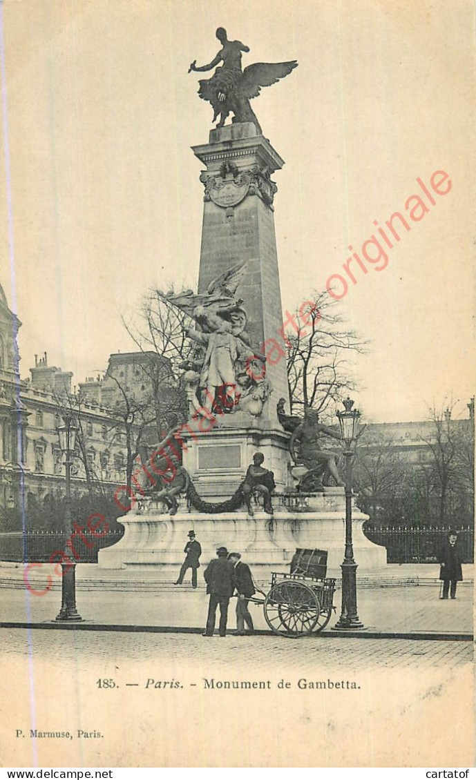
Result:
<svg viewBox="0 0 476 780"><path fill-rule="evenodd" d="M388 563L437 563L449 530L456 530L464 563L474 562L474 528L378 526L364 523L364 534L387 549Z"/></svg>

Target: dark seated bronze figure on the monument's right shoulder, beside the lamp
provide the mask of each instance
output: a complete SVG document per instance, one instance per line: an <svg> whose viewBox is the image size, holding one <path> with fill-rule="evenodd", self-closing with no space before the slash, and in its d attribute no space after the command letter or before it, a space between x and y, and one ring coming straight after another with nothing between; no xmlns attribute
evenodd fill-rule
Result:
<svg viewBox="0 0 476 780"><path fill-rule="evenodd" d="M304 410L304 420L293 431L290 440L294 463L303 464L308 470L300 480L300 491L322 490L321 485L329 485L330 477L337 485L344 484L336 464L339 453L321 449L319 439L322 435L332 436L340 441L340 435L336 431L318 422L317 411L307 408Z"/></svg>

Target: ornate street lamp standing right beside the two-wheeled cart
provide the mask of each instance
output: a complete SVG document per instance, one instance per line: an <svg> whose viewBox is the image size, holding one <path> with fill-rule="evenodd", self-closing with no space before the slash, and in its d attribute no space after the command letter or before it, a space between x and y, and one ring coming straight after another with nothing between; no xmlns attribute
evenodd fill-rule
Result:
<svg viewBox="0 0 476 780"><path fill-rule="evenodd" d="M353 559L352 546L352 459L357 429L361 413L353 409L353 401L347 398L343 405L344 411L338 411L340 435L346 449L346 550L341 564L342 570L342 610L335 629L362 629L363 623L357 615L357 563Z"/></svg>

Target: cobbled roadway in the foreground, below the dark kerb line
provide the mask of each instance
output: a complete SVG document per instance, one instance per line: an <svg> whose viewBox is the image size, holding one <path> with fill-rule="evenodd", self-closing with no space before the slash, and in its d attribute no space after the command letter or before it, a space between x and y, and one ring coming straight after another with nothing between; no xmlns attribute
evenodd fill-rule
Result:
<svg viewBox="0 0 476 780"><path fill-rule="evenodd" d="M471 663L472 647L470 642L432 641L432 640L367 640L336 636L320 640L306 636L300 640L285 640L279 636L219 636L204 638L197 634L157 633L84 633L74 632L65 636L57 631L25 631L24 629L2 629L2 658L34 657L48 659L55 664L69 661L82 665L87 659L88 665L102 668L108 663L107 673L114 674L117 684L142 683L142 679L122 679L123 664L127 659L134 668L155 669L158 659L161 668L174 665L177 661L193 659L198 675L204 668L217 670L230 669L233 674L252 673L270 666L286 668L286 672L297 672L304 676L312 670L321 675L323 670L336 669L365 671L372 668L428 668L441 665L461 666ZM114 661L112 661L114 659ZM246 664L243 663L246 659ZM153 664L142 666L147 661ZM242 661L240 663L240 661ZM116 664L114 667L113 664ZM105 670L106 672L106 670ZM142 675L144 676L144 675ZM145 677L151 674L147 672ZM229 677L229 675L228 675ZM339 678L340 679L340 678Z"/></svg>

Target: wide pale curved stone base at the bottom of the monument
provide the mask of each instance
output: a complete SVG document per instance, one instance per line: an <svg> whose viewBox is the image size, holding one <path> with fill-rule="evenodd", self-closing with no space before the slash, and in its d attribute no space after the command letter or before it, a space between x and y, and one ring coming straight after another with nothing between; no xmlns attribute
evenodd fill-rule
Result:
<svg viewBox="0 0 476 780"><path fill-rule="evenodd" d="M126 533L118 544L99 553L99 566L105 569L147 569L154 566L165 580L176 579L183 562L187 533L193 529L202 547L202 566L215 558L216 549L225 546L238 551L250 564L254 576L269 580L272 571L289 571L297 548L327 550L328 576L339 576L345 540L345 497L343 488L325 488L318 497L320 508L305 505L297 498L289 509L278 507L270 517L245 511L219 515L180 511L175 516L159 514L152 502L142 502L121 519ZM362 524L368 519L357 507L353 512L353 549L359 571L380 568L386 563L386 550L364 536Z"/></svg>

